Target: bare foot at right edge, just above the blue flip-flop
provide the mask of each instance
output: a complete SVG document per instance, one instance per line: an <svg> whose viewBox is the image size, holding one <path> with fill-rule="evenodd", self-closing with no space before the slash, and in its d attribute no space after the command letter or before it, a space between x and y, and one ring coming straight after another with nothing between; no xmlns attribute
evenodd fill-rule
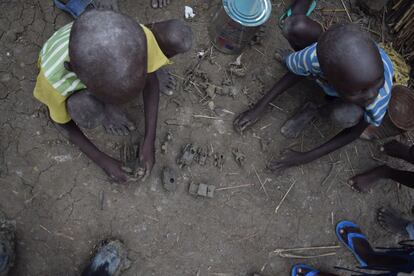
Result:
<svg viewBox="0 0 414 276"><path fill-rule="evenodd" d="M382 228L390 233L408 236L406 227L410 221L404 219L401 214L394 210L380 208L377 212L377 221Z"/></svg>

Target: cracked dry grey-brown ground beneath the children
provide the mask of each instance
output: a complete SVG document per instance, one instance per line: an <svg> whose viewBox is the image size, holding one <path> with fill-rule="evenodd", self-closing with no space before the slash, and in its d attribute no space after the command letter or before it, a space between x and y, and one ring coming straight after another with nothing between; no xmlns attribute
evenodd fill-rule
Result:
<svg viewBox="0 0 414 276"><path fill-rule="evenodd" d="M207 25L215 5L206 9L203 1L176 0L168 9L152 10L147 2L125 0L120 6L143 23L182 18L185 3L195 7L197 18L189 23L196 34L195 47L172 66L175 74L183 76L194 64L196 52L209 47ZM339 1L321 1L321 5L341 7ZM216 106L239 113L260 96L254 76L260 75L268 88L285 72L271 58L276 47L287 46L275 27L282 7L281 1L275 1L264 45L249 49L243 57L250 71L236 79L236 87L247 87L248 93L235 99L217 96ZM383 205L407 211L412 193L383 182L372 194L361 195L345 184L354 172L376 164L373 156L385 158L376 144L358 141L280 175L264 170L266 162L282 149L306 150L333 134L331 125L316 121L296 140L280 135L282 123L317 93L311 83L300 84L275 101L282 109L269 109L244 136L233 132L232 115L223 120L193 118L193 114L213 114L195 89L185 92L180 87L172 98L161 98L152 176L145 183L128 186L108 182L101 170L58 134L45 108L32 97L39 49L54 30L69 21L49 0L0 0L0 209L17 224L17 264L12 275L79 275L93 245L109 236L121 238L129 248L132 267L125 275L246 275L261 268L265 275L287 275L295 260L269 253L276 248L336 244L333 223L339 219L361 224L376 245L396 241L378 228L374 211ZM214 62L203 62L202 69L211 82L220 85L223 68L234 57L214 56ZM128 108L140 130L128 139L139 140L142 103ZM177 119L183 126L167 125L168 119ZM173 141L163 155L160 143L168 130ZM119 156L122 139L102 129L88 135L105 151ZM260 140L271 141L269 148L263 150ZM160 171L165 165L177 168L176 157L188 142L223 153L223 170L213 166L212 158L206 166L179 170L178 190L167 193ZM243 168L233 160L232 148L246 155ZM265 182L264 189L258 176ZM187 193L190 181L243 187L217 191L214 199L197 199ZM275 214L292 181L295 185ZM333 265L355 264L342 248L336 256L308 263L328 270Z"/></svg>

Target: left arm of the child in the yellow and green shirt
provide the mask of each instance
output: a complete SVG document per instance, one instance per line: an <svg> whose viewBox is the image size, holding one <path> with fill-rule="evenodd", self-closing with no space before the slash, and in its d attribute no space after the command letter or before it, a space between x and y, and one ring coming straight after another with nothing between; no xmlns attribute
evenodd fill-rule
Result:
<svg viewBox="0 0 414 276"><path fill-rule="evenodd" d="M79 129L79 127L70 121L66 124L56 124L69 139L70 142L79 147L93 162L101 167L105 173L116 182L125 182L128 179L127 174L122 170L122 164L118 160L106 155L100 151Z"/></svg>

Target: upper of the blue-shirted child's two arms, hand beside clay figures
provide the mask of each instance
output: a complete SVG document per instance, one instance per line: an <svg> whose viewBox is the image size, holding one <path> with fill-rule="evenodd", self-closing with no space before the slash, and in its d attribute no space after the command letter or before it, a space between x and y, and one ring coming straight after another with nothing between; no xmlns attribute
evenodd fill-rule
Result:
<svg viewBox="0 0 414 276"><path fill-rule="evenodd" d="M237 116L236 120L234 120L235 129L242 132L252 126L257 122L271 101L304 78L291 72L286 73L251 109Z"/></svg>

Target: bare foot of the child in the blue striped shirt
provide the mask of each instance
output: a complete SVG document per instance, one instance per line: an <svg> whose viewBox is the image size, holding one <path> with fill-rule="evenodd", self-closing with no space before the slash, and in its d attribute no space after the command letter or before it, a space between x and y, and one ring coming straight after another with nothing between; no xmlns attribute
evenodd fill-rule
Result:
<svg viewBox="0 0 414 276"><path fill-rule="evenodd" d="M280 131L288 138L296 138L315 118L317 113L316 106L311 102L307 102L298 113L282 126Z"/></svg>

